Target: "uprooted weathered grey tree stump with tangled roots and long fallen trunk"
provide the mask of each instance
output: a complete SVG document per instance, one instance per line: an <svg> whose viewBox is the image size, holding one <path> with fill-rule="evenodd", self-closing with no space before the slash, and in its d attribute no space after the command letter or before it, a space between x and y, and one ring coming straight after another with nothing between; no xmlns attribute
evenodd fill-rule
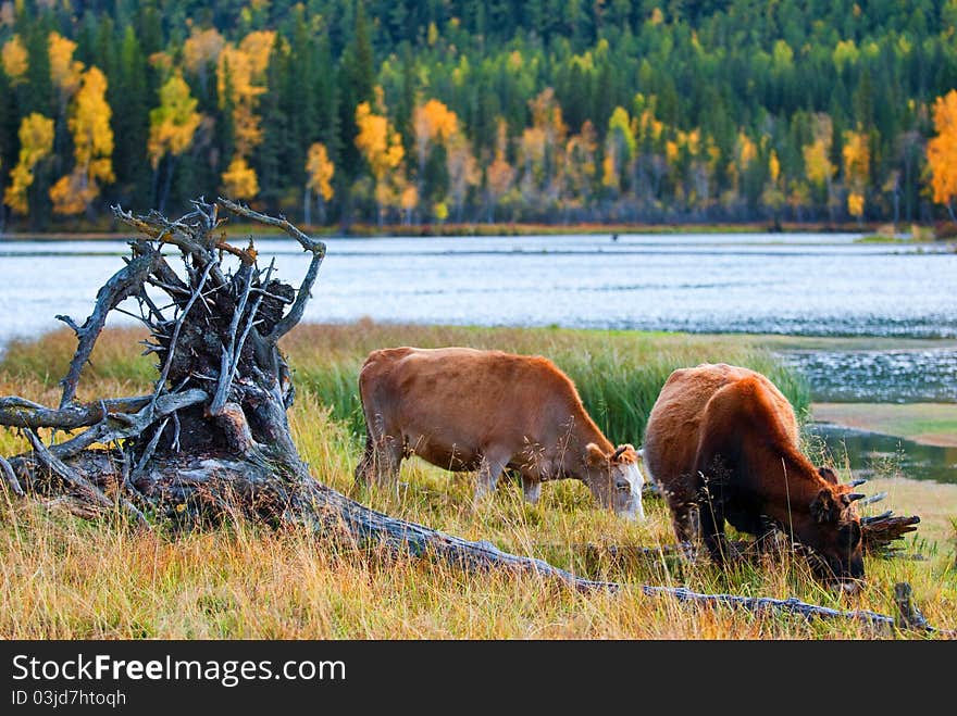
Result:
<svg viewBox="0 0 957 716"><path fill-rule="evenodd" d="M311 253L298 289L259 266L250 239L245 249L226 242L220 210L282 228ZM284 218L219 199L194 202L194 211L169 221L160 213L134 216L114 208L121 222L142 236L129 242L126 265L100 289L90 316L77 324L58 316L77 337L61 381L57 409L12 395L0 398L0 426L18 429L32 449L0 457L0 485L18 497L38 495L86 518L121 514L150 529L169 519L181 528L234 517L277 528L306 528L332 544L380 545L395 553L432 557L467 570L506 569L557 581L580 591L618 591L543 560L504 552L376 512L318 481L301 461L286 412L295 399L278 340L301 319L325 256L322 241ZM182 271L164 249L178 250ZM227 268L224 261L237 263ZM150 293L152 289L152 294ZM157 300L157 293L164 294ZM145 354L158 356L150 394L78 402L78 384L110 311L136 300L149 329ZM77 435L45 443L41 429ZM913 520L884 516L885 533L910 531ZM891 522L886 522L891 520ZM877 524L877 520L875 523ZM648 594L692 592L644 586ZM700 595L741 603L732 595ZM747 603L747 600L745 600ZM763 601L775 606L773 600ZM782 608L794 611L785 600ZM812 607L811 613L822 607ZM856 613L855 613L856 614ZM830 614L829 614L830 616ZM858 617L855 617L858 618ZM868 618L885 623L891 617ZM925 626L925 625L924 625ZM924 628L924 627L921 627Z"/></svg>

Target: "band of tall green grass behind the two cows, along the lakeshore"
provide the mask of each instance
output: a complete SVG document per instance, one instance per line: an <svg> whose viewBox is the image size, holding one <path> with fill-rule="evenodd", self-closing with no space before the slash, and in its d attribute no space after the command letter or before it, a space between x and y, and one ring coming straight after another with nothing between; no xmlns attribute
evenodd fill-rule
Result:
<svg viewBox="0 0 957 716"><path fill-rule="evenodd" d="M699 363L731 363L767 375L798 415L807 409L807 384L747 336L699 336L562 328L477 328L387 325L300 326L284 348L295 380L364 436L357 377L371 350L396 346L468 346L539 354L574 381L585 409L616 443L639 444L648 413L672 370Z"/></svg>

